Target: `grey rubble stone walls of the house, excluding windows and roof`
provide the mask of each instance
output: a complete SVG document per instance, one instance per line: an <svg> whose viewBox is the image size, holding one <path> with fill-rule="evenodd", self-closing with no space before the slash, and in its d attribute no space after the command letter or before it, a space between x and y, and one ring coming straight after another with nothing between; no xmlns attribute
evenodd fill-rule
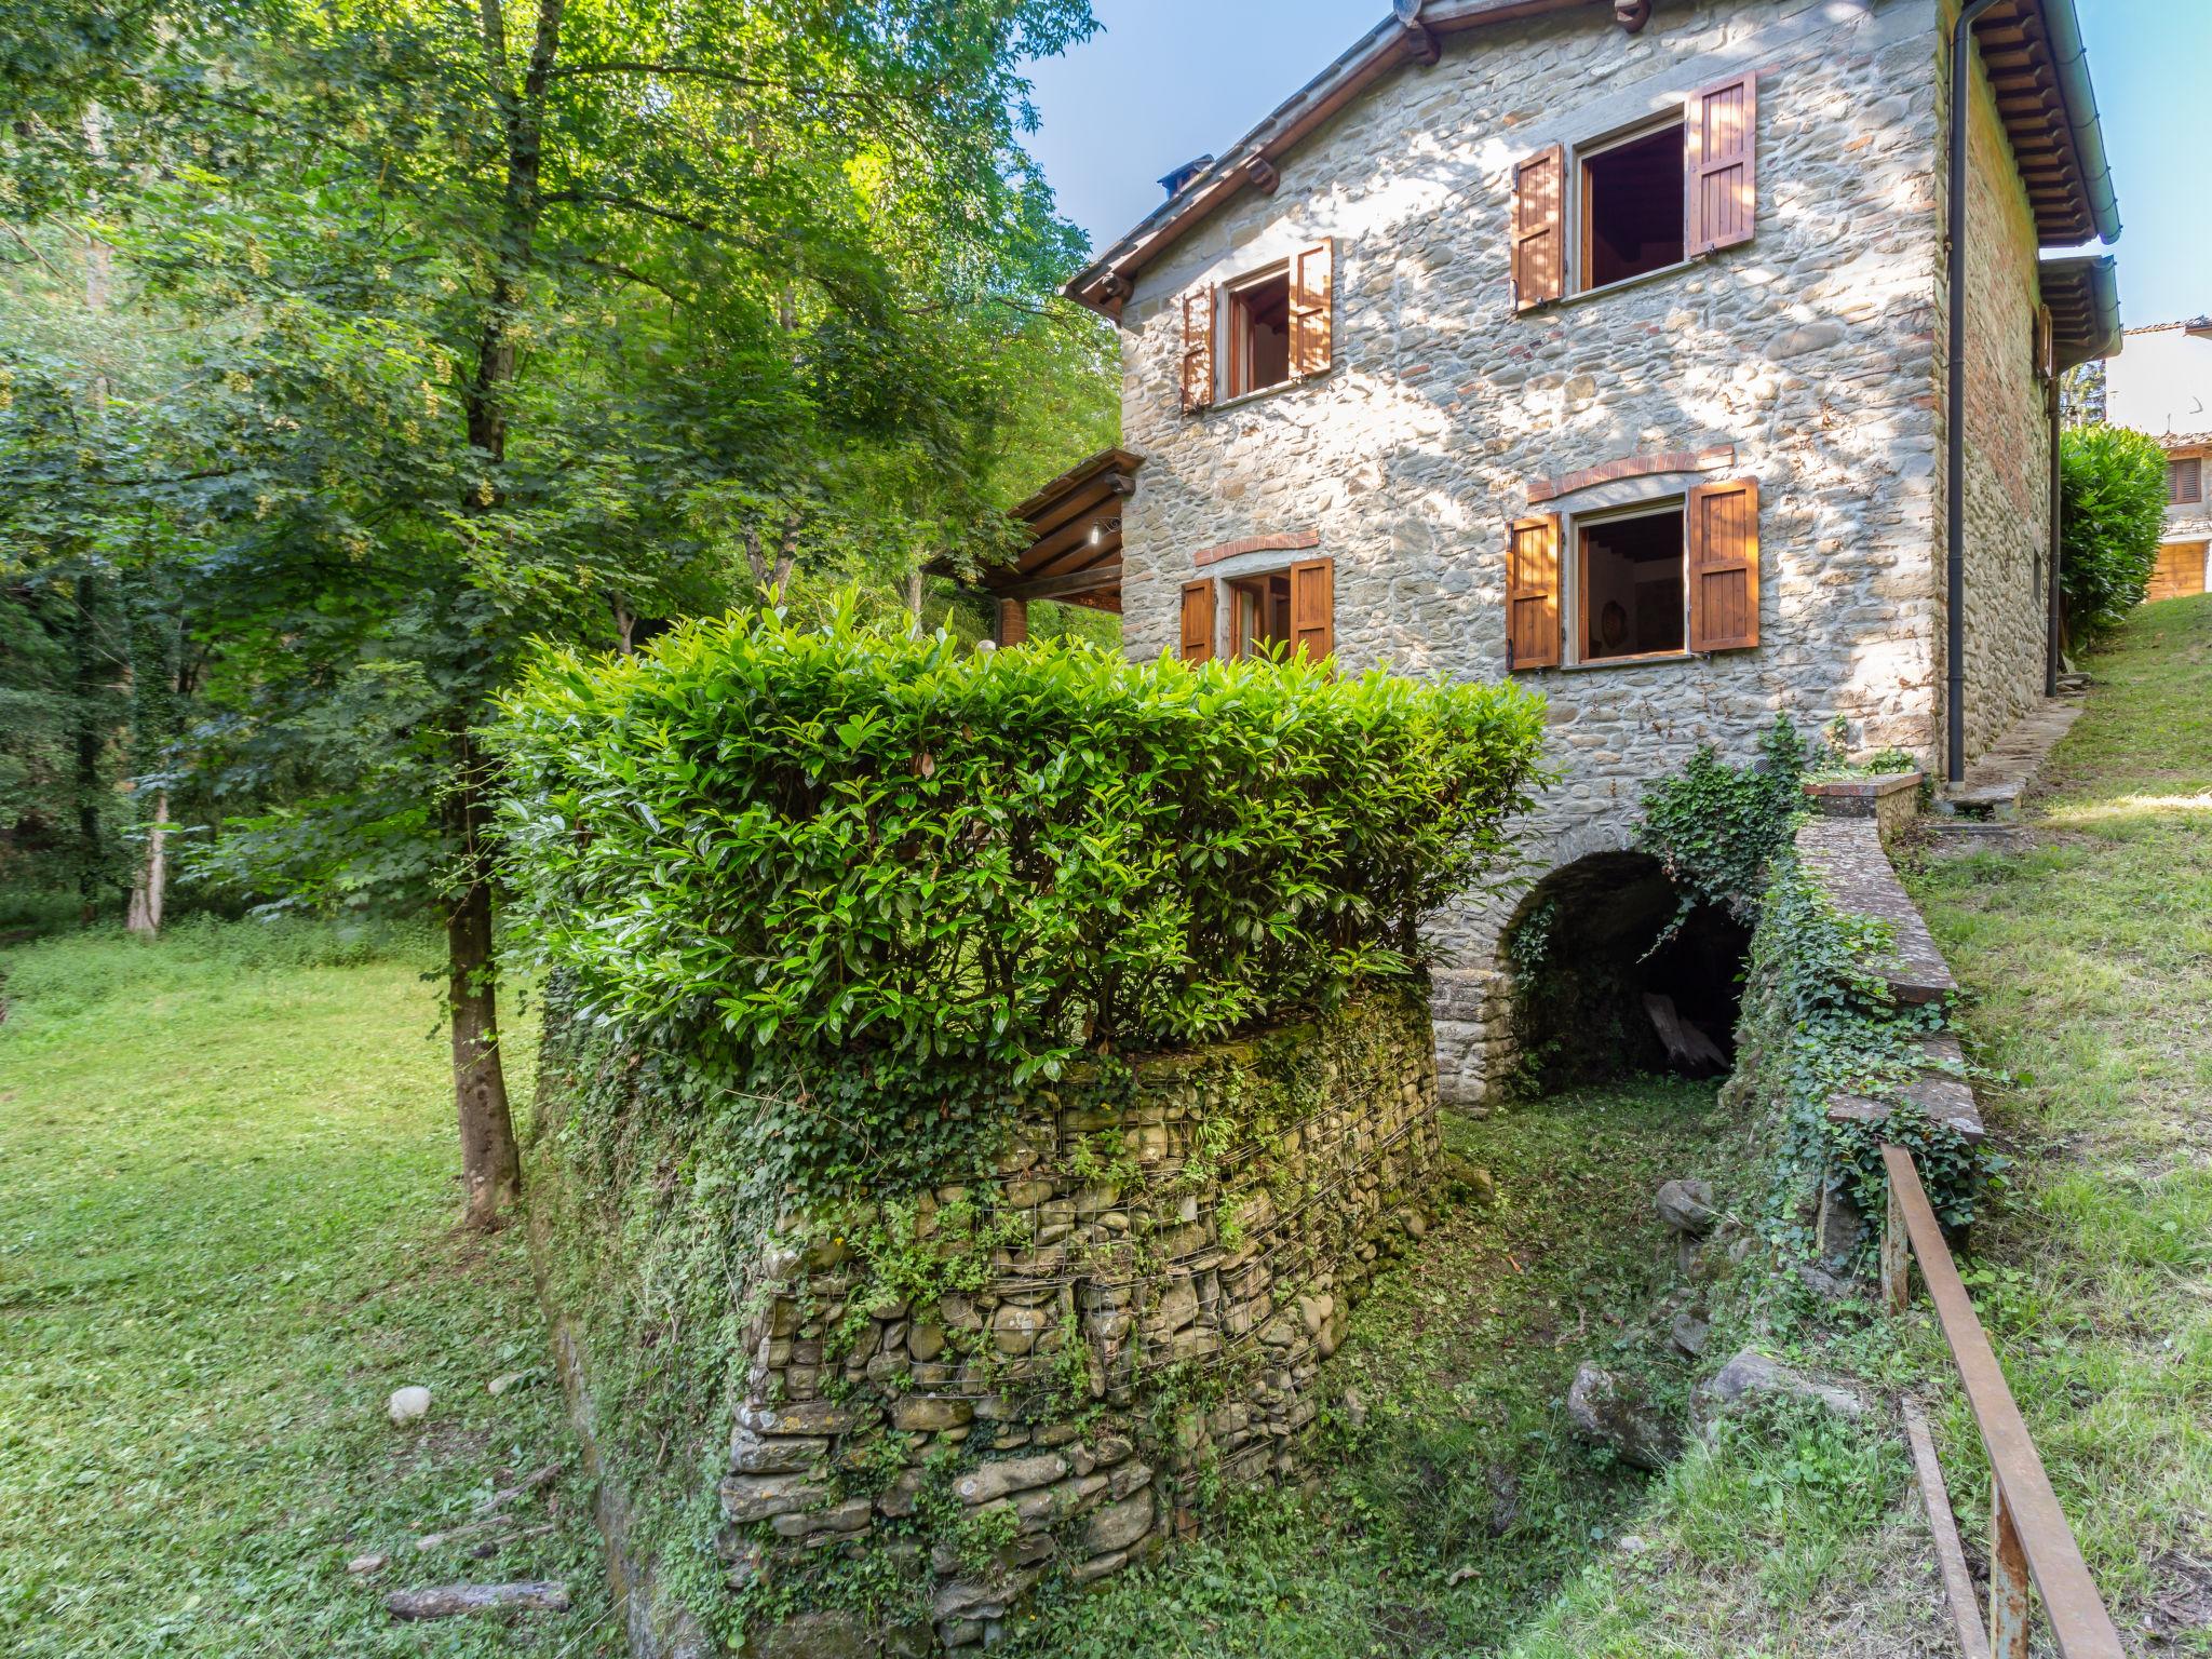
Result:
<svg viewBox="0 0 2212 1659"><path fill-rule="evenodd" d="M1942 77L1933 0L1688 0L1637 35L1601 9L1447 42L1279 159L1144 270L1124 312L1124 644L1175 650L1194 553L1285 531L1329 557L1347 672L1504 675L1513 518L1761 489L1761 644L1708 659L1542 670L1559 783L1524 827L1522 887L1433 918L1447 1102L1509 1060L1498 940L1546 872L1628 845L1644 785L1699 743L1745 761L1761 728L1840 717L1854 752L1940 768ZM1511 166L1759 71L1756 239L1515 314ZM2042 684L2042 473L2033 226L1986 82L1971 148L1969 743ZM1181 299L1332 237L1325 376L1186 416ZM1732 447L1721 471L1703 460ZM1593 478L1630 458L1672 471ZM1697 467L1683 467L1694 458ZM1546 498L1553 484L1573 489ZM1203 573L1281 568L1283 553Z"/></svg>

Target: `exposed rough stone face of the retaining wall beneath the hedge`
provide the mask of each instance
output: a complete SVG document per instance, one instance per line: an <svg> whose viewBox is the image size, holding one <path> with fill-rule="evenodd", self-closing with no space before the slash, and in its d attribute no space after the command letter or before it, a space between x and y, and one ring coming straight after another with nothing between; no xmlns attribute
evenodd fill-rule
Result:
<svg viewBox="0 0 2212 1659"><path fill-rule="evenodd" d="M1026 1241L998 1250L975 1292L883 1303L841 1237L803 1217L781 1230L730 1378L732 1582L818 1551L927 1548L936 1639L973 1648L1046 1571L1088 1584L1192 1531L1201 1471L1239 1486L1296 1469L1358 1290L1427 1228L1442 1139L1425 998L1371 991L1318 1022L1130 1066L1126 1104L1077 1082L1015 1126L998 1212L1020 1210ZM1256 1099L1272 1104L1254 1119ZM1141 1166L1130 1181L1106 1159L1124 1186L1099 1175L1115 1144ZM962 1199L991 1208L947 1186L920 1214ZM841 1495L841 1451L883 1429L905 1436L905 1469L872 1498ZM989 1520L984 1571L918 1531L945 1480L925 1462L947 1451L962 1467L936 1504Z"/></svg>

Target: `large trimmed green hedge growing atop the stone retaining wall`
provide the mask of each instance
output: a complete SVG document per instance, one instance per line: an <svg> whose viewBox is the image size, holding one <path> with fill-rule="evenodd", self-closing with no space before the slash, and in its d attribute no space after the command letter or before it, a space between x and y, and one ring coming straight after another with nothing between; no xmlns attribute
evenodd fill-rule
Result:
<svg viewBox="0 0 2212 1659"><path fill-rule="evenodd" d="M498 745L582 1006L772 1060L841 1097L823 1157L843 1117L880 1161L1079 1051L1413 971L1418 918L1504 874L1542 732L1509 686L754 615L544 657Z"/></svg>

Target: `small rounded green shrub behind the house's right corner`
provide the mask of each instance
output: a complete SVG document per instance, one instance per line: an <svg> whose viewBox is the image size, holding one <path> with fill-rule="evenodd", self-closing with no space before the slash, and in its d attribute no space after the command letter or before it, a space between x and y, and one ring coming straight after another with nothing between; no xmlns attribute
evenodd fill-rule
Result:
<svg viewBox="0 0 2212 1659"><path fill-rule="evenodd" d="M2128 427L2059 434L2059 593L2077 641L2143 602L2166 526L2166 451Z"/></svg>

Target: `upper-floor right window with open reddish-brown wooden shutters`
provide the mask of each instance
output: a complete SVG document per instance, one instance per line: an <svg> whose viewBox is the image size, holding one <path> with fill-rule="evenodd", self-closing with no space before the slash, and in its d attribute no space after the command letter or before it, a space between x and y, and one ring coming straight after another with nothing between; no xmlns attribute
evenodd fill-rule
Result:
<svg viewBox="0 0 2212 1659"><path fill-rule="evenodd" d="M1513 305L1531 310L1752 239L1759 80L1690 93L1626 133L1553 144L1513 168Z"/></svg>

